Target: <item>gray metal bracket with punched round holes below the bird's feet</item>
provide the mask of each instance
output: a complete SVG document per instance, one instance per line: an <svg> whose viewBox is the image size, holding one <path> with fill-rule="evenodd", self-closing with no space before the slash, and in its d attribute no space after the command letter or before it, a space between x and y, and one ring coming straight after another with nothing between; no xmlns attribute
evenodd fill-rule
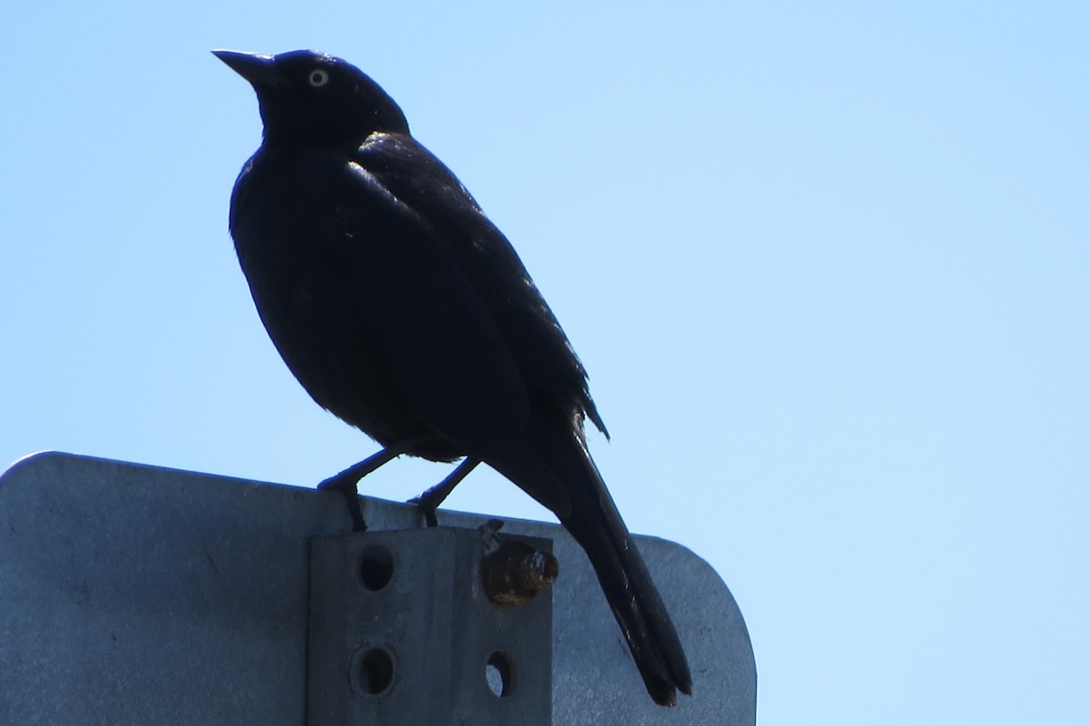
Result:
<svg viewBox="0 0 1090 726"><path fill-rule="evenodd" d="M489 601L489 537L437 527L311 538L308 726L552 724L553 598Z"/></svg>

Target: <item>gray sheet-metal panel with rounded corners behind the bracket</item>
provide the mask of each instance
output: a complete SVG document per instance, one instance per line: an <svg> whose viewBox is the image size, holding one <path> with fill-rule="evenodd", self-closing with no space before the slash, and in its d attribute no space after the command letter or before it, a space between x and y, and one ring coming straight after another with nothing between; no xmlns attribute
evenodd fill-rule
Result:
<svg viewBox="0 0 1090 726"><path fill-rule="evenodd" d="M373 530L414 507L364 500ZM476 528L487 517L440 512ZM0 723L305 723L307 538L349 529L331 492L66 454L0 478ZM593 571L556 525L554 724L755 722L741 614L688 550L639 538L693 670L692 698L654 705ZM422 696L422 698L426 698Z"/></svg>

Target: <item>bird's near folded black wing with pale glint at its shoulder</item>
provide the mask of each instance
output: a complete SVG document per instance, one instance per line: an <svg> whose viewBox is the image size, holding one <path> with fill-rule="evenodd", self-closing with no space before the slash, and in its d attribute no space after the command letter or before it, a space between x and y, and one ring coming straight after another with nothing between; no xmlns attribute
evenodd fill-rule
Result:
<svg viewBox="0 0 1090 726"><path fill-rule="evenodd" d="M353 305L401 395L436 431L487 456L529 416L522 373L487 306L428 219L358 160L343 167L334 225L351 239Z"/></svg>

